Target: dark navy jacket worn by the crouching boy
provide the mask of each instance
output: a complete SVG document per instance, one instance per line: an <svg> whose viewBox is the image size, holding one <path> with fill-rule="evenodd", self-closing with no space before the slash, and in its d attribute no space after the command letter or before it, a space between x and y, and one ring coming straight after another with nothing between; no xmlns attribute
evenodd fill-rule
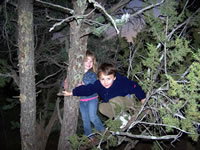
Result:
<svg viewBox="0 0 200 150"><path fill-rule="evenodd" d="M73 89L73 96L89 96L94 93L98 93L102 99L102 102L108 102L111 98L116 96L126 96L128 94L135 94L138 99L144 99L146 97L142 88L134 81L116 74L110 88L104 88L100 81L95 81L94 84L82 85Z"/></svg>

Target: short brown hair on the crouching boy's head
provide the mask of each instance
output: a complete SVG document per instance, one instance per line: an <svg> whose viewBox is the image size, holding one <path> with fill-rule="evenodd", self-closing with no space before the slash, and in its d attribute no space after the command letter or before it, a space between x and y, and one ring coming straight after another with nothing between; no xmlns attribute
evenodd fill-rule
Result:
<svg viewBox="0 0 200 150"><path fill-rule="evenodd" d="M99 78L100 74L103 73L106 76L113 74L114 77L116 77L116 72L117 72L117 70L113 64L103 63L98 68L97 76Z"/></svg>

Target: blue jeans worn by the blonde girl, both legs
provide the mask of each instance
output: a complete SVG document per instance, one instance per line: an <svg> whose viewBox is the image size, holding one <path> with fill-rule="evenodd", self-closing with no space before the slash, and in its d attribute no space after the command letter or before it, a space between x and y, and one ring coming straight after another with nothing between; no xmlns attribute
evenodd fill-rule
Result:
<svg viewBox="0 0 200 150"><path fill-rule="evenodd" d="M80 112L83 120L84 134L86 136L92 134L91 122L97 131L104 131L105 128L97 116L98 99L90 101L80 101Z"/></svg>

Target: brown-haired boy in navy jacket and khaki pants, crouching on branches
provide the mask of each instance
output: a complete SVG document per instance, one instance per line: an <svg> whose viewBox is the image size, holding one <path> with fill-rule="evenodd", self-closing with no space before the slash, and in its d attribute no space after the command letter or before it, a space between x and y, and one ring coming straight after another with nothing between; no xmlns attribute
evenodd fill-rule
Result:
<svg viewBox="0 0 200 150"><path fill-rule="evenodd" d="M142 104L145 102L146 95L142 88L134 81L121 76L112 64L103 63L98 68L98 79L94 84L82 85L73 89L72 92L63 91L64 96L87 96L98 93L102 99L99 110L109 118L115 117L115 105L130 107L133 105L129 94L135 94Z"/></svg>

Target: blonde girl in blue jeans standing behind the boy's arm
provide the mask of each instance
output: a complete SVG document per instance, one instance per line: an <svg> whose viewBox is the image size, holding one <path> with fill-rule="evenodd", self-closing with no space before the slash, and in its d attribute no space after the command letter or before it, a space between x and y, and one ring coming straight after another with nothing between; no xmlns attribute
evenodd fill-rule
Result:
<svg viewBox="0 0 200 150"><path fill-rule="evenodd" d="M86 52L84 61L84 75L82 85L93 84L97 80L96 76L96 59L93 53ZM66 80L65 80L66 82ZM66 88L65 88L66 89ZM84 97L83 97L84 96ZM101 120L97 116L98 95L97 93L82 95L80 97L80 112L83 121L84 134L88 137L92 135L91 122L99 132L105 130Z"/></svg>

